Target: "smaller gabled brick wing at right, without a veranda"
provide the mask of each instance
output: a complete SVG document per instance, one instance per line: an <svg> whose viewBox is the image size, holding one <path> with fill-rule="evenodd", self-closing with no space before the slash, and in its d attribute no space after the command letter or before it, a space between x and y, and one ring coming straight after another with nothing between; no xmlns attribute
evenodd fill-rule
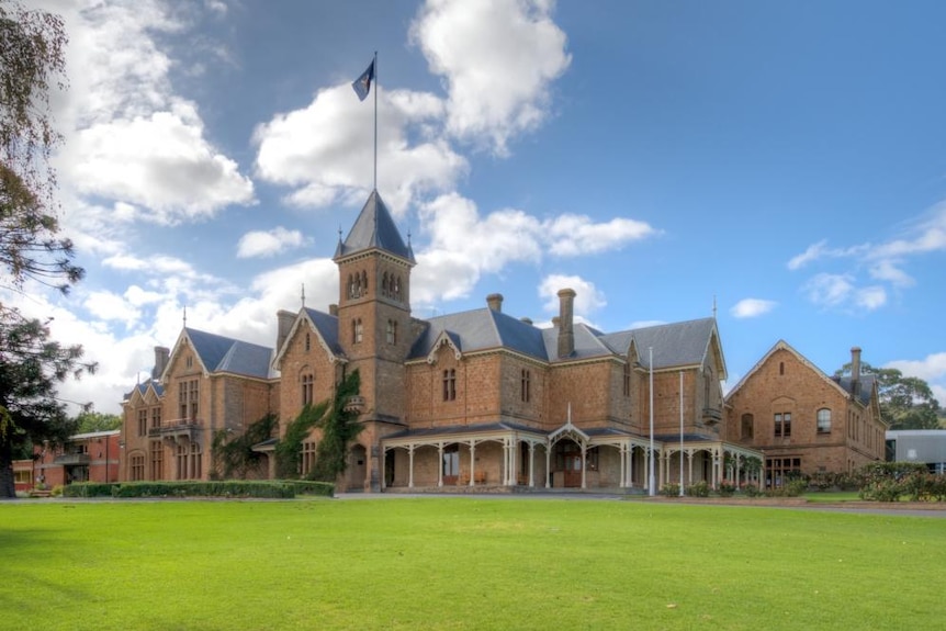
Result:
<svg viewBox="0 0 946 631"><path fill-rule="evenodd" d="M852 472L885 458L874 375L829 376L785 341L776 343L727 396L728 440L765 453L765 482L790 472Z"/></svg>

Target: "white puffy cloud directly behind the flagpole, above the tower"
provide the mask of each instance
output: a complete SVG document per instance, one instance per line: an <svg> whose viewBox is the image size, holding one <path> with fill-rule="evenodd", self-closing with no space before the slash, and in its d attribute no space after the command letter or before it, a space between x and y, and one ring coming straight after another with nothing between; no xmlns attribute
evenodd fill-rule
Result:
<svg viewBox="0 0 946 631"><path fill-rule="evenodd" d="M419 195L450 190L469 168L446 140L431 135L442 115L442 102L432 94L380 92L378 188L396 215ZM348 83L319 90L305 109L257 127L259 177L293 187L286 201L296 206L362 203L372 184L373 116ZM417 143L409 140L414 137Z"/></svg>

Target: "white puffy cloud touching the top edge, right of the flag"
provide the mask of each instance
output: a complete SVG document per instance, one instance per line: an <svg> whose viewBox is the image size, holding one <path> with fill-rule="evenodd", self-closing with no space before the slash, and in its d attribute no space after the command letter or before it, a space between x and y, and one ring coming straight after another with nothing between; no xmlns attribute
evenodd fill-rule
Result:
<svg viewBox="0 0 946 631"><path fill-rule="evenodd" d="M448 91L447 128L508 153L516 135L549 116L549 88L571 63L551 1L428 0L410 27Z"/></svg>

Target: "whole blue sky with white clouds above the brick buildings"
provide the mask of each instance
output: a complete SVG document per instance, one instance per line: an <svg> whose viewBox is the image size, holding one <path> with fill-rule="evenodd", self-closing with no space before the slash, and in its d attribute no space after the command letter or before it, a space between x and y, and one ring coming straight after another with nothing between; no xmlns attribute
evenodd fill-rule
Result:
<svg viewBox="0 0 946 631"><path fill-rule="evenodd" d="M54 315L117 413L188 326L271 346L337 302L372 185L410 233L418 317L606 330L712 315L734 385L779 339L946 403L946 5L82 0L61 12L63 223L87 279Z"/></svg>

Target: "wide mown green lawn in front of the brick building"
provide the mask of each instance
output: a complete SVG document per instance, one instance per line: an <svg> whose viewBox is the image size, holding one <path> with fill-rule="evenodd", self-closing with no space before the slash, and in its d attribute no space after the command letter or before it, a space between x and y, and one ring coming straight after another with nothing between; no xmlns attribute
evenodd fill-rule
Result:
<svg viewBox="0 0 946 631"><path fill-rule="evenodd" d="M672 503L0 505L3 629L933 629L946 520Z"/></svg>

